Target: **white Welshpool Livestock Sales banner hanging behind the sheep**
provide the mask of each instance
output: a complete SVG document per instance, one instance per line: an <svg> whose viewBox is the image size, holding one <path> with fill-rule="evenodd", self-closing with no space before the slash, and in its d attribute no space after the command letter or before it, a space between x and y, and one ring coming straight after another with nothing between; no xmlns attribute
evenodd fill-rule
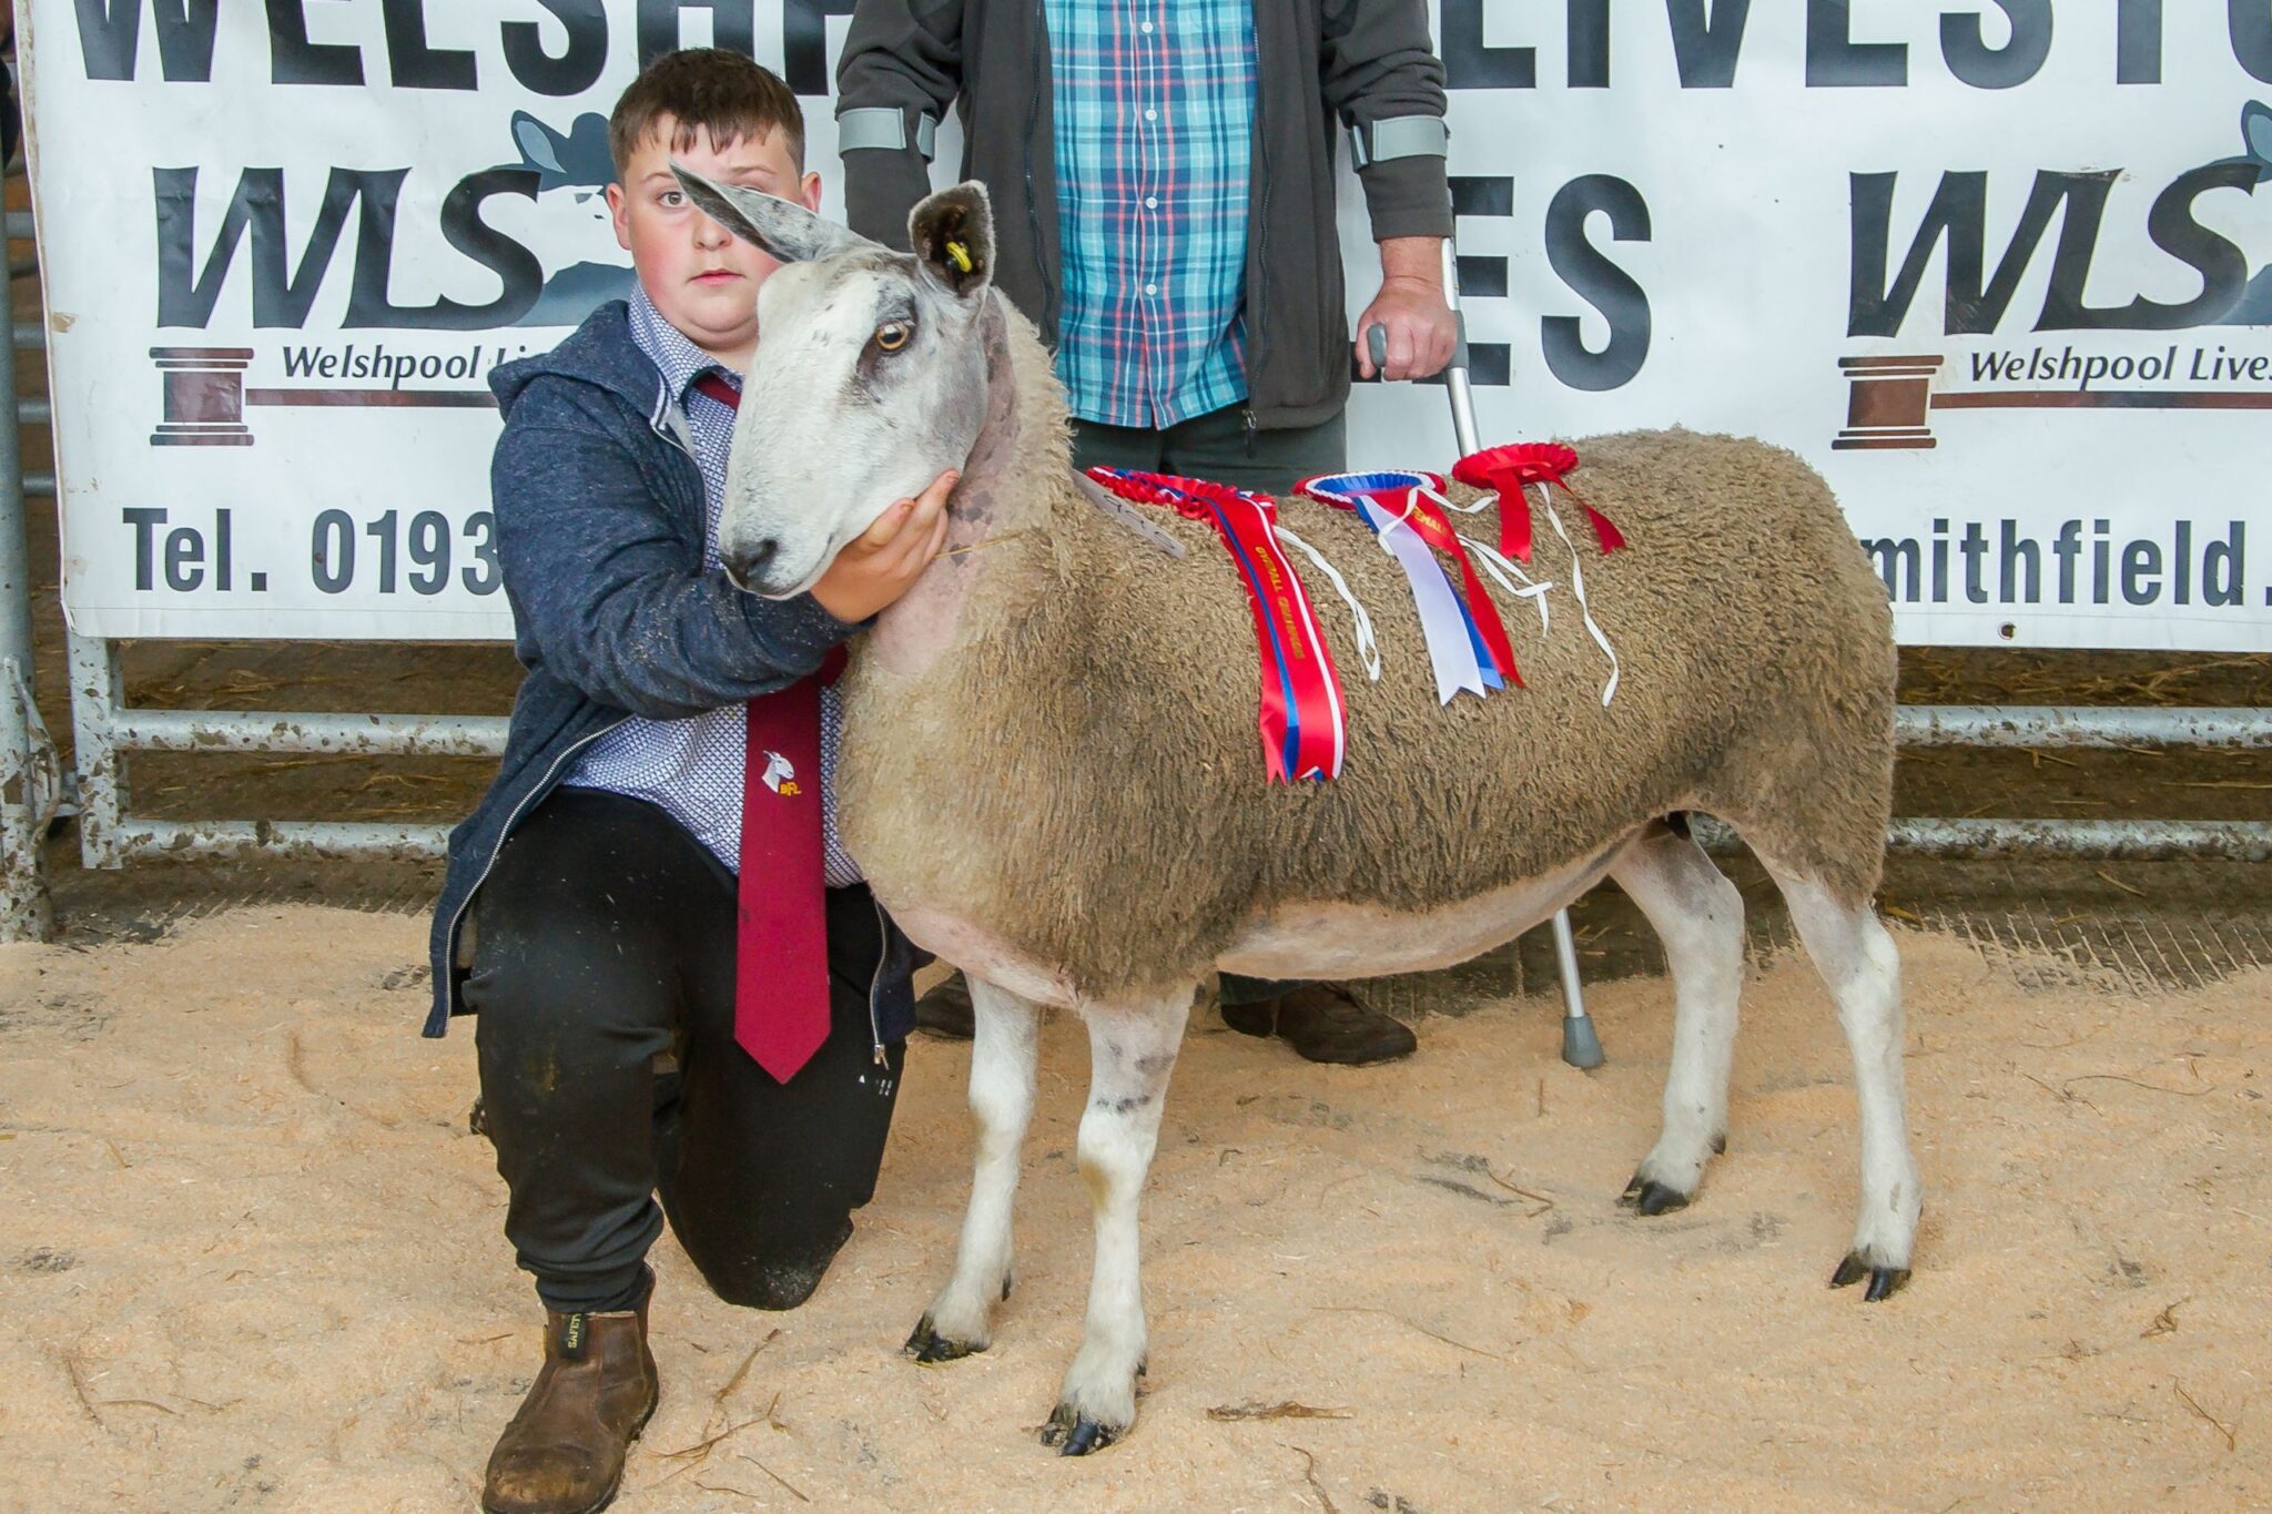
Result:
<svg viewBox="0 0 2272 1514"><path fill-rule="evenodd" d="M836 213L845 9L18 0L73 626L509 636L484 379L627 279L607 109L743 48ZM2272 649L2272 0L1440 0L1438 43L1486 443L1781 443L1906 642ZM1347 175L1343 243L1354 313ZM1450 456L1440 388L1354 399L1354 463Z"/></svg>

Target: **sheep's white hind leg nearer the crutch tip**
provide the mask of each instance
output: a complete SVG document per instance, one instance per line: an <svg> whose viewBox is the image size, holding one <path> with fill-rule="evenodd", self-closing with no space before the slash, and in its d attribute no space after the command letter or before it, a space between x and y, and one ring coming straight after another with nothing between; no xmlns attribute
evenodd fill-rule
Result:
<svg viewBox="0 0 2272 1514"><path fill-rule="evenodd" d="M1704 1162L1727 1149L1727 1074L1743 990L1743 894L1695 840L1670 826L1649 826L1609 876L1647 915L1672 969L1665 1124L1620 1198L1640 1214L1665 1214L1695 1196Z"/></svg>

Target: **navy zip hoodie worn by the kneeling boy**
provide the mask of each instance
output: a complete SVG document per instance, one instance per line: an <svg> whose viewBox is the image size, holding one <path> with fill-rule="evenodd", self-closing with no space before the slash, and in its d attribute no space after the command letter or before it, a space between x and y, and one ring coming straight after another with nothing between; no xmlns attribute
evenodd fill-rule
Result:
<svg viewBox="0 0 2272 1514"><path fill-rule="evenodd" d="M679 443L679 397L638 350L620 300L552 352L504 363L488 386L504 413L488 465L498 558L513 656L527 672L498 776L450 833L427 1035L463 1012L466 906L504 838L584 747L629 715L679 720L770 695L859 631L811 595L759 599L704 572L702 470ZM884 962L868 992L879 1049L916 1024L913 960L884 917Z"/></svg>

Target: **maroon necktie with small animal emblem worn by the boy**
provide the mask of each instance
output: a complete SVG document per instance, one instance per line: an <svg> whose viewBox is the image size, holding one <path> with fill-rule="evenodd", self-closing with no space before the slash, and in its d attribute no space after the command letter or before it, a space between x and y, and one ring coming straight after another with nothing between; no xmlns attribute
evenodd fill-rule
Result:
<svg viewBox="0 0 2272 1514"><path fill-rule="evenodd" d="M704 372L695 388L738 409L741 390ZM750 701L741 774L741 908L734 931L734 1040L788 1083L829 1037L827 858L820 849L820 672Z"/></svg>

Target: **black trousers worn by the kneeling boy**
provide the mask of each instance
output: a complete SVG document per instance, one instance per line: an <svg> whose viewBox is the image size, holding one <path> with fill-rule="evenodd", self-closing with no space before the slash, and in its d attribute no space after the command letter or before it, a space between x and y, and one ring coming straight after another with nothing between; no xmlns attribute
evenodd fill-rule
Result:
<svg viewBox="0 0 2272 1514"><path fill-rule="evenodd" d="M666 1214L720 1298L795 1307L875 1196L904 1055L875 1060L875 901L829 890L834 1024L775 1083L734 1042L734 890L657 806L577 788L482 883L463 985L482 1108L504 1235L550 1310L629 1307Z"/></svg>

